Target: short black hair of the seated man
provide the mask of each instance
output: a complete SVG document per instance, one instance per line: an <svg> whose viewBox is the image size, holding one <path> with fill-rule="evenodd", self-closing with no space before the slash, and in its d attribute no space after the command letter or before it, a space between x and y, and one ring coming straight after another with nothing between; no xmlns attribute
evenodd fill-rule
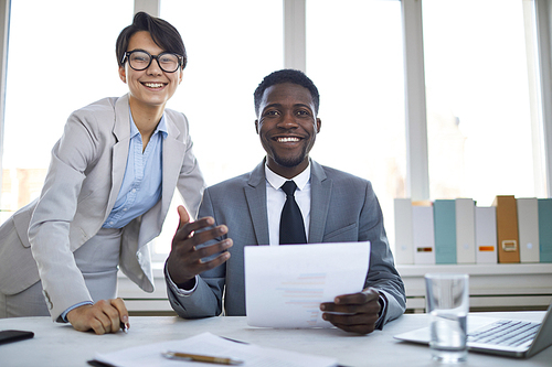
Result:
<svg viewBox="0 0 552 367"><path fill-rule="evenodd" d="M258 85L257 89L255 89L253 96L255 99L255 114L257 114L257 117L261 114L258 109L261 108L261 100L263 99L263 94L265 93L265 90L273 85L283 83L293 83L307 88L310 91L312 102L315 104L315 114L318 115L318 107L320 106L320 95L318 94L318 88L316 87L316 85L302 72L291 68L285 68L265 76L263 82L261 82L261 84Z"/></svg>

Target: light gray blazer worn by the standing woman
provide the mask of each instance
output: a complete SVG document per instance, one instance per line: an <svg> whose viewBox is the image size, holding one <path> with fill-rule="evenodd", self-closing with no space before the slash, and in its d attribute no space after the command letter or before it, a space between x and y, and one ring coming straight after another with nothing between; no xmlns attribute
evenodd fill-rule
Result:
<svg viewBox="0 0 552 367"><path fill-rule="evenodd" d="M153 291L148 242L161 231L174 188L192 214L204 190L188 120L173 110L164 114L162 196L123 229L120 247L120 269L147 292ZM128 95L71 115L52 150L40 198L0 227L0 292L14 294L41 280L54 320L71 305L92 301L73 252L96 235L115 205L129 139Z"/></svg>

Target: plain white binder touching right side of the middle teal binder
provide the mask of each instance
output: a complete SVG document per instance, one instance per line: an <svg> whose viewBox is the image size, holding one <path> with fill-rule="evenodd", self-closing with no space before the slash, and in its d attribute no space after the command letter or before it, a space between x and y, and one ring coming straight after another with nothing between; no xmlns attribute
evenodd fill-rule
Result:
<svg viewBox="0 0 552 367"><path fill-rule="evenodd" d="M456 199L456 262L476 263L476 205L473 198Z"/></svg>

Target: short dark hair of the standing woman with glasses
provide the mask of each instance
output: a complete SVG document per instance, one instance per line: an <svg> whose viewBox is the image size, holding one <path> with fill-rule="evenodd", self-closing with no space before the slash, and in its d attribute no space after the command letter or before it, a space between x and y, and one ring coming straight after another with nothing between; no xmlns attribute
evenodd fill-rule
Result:
<svg viewBox="0 0 552 367"><path fill-rule="evenodd" d="M185 47L182 37L178 30L172 26L169 22L151 17L142 11L136 13L132 24L120 31L117 37L116 53L117 63L123 66L123 60L125 58L125 52L127 52L128 42L130 37L140 31L146 31L151 34L153 42L166 52L172 52L182 56L182 68L185 67L188 57L185 55Z"/></svg>

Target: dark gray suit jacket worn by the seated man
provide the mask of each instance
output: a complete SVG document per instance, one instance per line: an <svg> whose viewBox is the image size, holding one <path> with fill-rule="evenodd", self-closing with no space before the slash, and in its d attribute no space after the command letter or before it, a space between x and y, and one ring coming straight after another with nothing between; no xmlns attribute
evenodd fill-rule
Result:
<svg viewBox="0 0 552 367"><path fill-rule="evenodd" d="M372 244L364 287L388 300L385 322L404 313L404 284L389 248L380 204L369 181L311 161L309 242L365 241ZM208 187L199 217L212 216L229 227L234 246L230 260L199 277L195 291L179 294L168 282L172 307L182 317L220 315L222 295L226 315L245 315L244 246L268 245L265 162L253 172ZM219 238L221 240L222 238ZM359 290L360 291L360 290Z"/></svg>

